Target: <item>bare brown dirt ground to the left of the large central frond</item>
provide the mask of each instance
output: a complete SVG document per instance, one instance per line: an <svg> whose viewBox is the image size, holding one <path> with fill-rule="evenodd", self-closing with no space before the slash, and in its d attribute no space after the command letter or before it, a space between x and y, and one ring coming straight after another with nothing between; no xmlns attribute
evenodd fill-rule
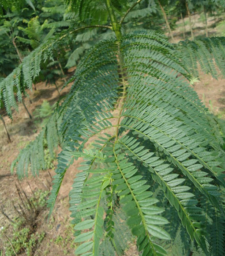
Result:
<svg viewBox="0 0 225 256"><path fill-rule="evenodd" d="M58 82L58 86L62 85L63 82ZM55 86L45 86L45 83L39 83L36 85L37 91L29 92L31 101L30 104L28 98L26 98L25 104L30 113L33 113L35 109L41 106L44 100L53 104L59 98L59 94ZM65 88L61 95L67 93L69 87ZM33 116L34 119L34 116ZM11 121L7 116L4 117L5 123L8 127L9 134L11 136L11 143L7 142L7 137L5 135L3 125L0 125L0 206L4 209L4 212L13 219L18 216L15 209L12 206L12 202L17 202L19 196L17 194L15 184L19 184L17 175L14 173L11 175L10 166L12 161L16 158L19 151L25 147L30 141L34 140L40 131L40 127L35 124L35 120L30 120L27 112L25 111L22 104L19 105L19 112L13 113L13 121ZM56 163L55 163L56 165ZM49 169L49 172L42 171L39 177L28 177L21 182L21 186L27 195L32 195L31 189L36 190L50 190L52 178L50 176L54 175L54 171ZM72 171L76 171L76 166L71 168L70 173L65 177L64 183L62 184L62 190L60 190L60 195L56 203L55 212L53 213L52 219L47 224L48 209L44 209L38 215L37 227L35 231L41 233L45 231L45 238L41 242L40 248L37 248L34 255L69 255L74 251L74 248L62 248L63 245L60 243L59 237L65 237L68 231L71 229L70 226L70 213L69 213L69 203L68 203L68 192L71 188L73 177ZM28 183L29 182L29 183ZM53 225L53 224L54 225ZM0 227L5 227L11 225L10 221L0 213ZM47 226L47 230L46 230ZM70 242L72 242L72 230L70 230ZM0 248L4 246L4 241L0 239ZM70 251L71 249L71 251ZM66 250L66 252L65 252ZM20 254L25 255L25 254Z"/></svg>

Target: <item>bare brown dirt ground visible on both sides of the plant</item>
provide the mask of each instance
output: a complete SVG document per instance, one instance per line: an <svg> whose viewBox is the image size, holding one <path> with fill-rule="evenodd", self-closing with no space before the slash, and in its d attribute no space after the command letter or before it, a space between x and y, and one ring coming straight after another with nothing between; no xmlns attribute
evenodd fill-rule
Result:
<svg viewBox="0 0 225 256"><path fill-rule="evenodd" d="M197 19L197 17L193 17L193 20L195 19ZM195 35L197 33L204 34L204 30L202 29L203 25L204 24L201 23L198 24L199 29L195 30ZM211 20L209 20L209 27L210 25ZM214 33L215 31L211 31L211 29L213 30L213 28L210 27L209 33ZM182 32L180 33L175 30L174 35L176 41L180 41L182 39ZM58 81L59 86L62 84L63 81ZM43 82L37 84L36 87L38 89L37 91L33 91L33 93L29 92L33 103L30 104L29 99L25 99L25 104L27 105L30 113L33 113L35 109L40 107L44 100L53 104L59 98L58 92L53 85L45 86L45 83ZM216 80L211 78L210 75L201 74L200 81L195 83L194 89L210 111L222 118L225 118L225 79L221 78ZM67 93L68 90L69 87L66 87L61 94ZM18 184L18 179L16 174L11 175L10 166L19 151L30 141L35 139L40 131L40 127L35 124L34 120L29 119L29 116L25 112L22 104L19 105L19 112L13 113L13 122L7 116L4 116L4 120L11 136L11 143L7 142L3 125L0 124L0 206L2 206L4 212L10 218L13 218L17 214L12 206L12 202L16 202L19 198L15 186L15 184ZM45 237L40 246L36 248L35 252L32 254L34 256L63 256L74 254L75 247L72 243L73 232L70 225L70 212L68 210L68 194L71 190L75 174L78 172L78 165L79 161L74 163L67 171L59 192L55 210L49 223L47 223L48 209L43 209L37 217L35 232L40 233L41 231L44 231ZM23 180L21 182L23 190L29 195L32 194L30 187L32 190L49 190L51 186L50 176L54 175L54 170L49 169L48 171L49 172L42 171L39 177L28 177ZM7 225L11 225L10 221L0 213L0 228ZM64 242L66 239L67 242ZM2 241L0 240L0 248L1 246L4 246L4 242L6 242L6 239ZM23 252L19 255L22 256L25 255L25 253ZM138 255L135 246L131 245L131 247L127 249L125 255Z"/></svg>

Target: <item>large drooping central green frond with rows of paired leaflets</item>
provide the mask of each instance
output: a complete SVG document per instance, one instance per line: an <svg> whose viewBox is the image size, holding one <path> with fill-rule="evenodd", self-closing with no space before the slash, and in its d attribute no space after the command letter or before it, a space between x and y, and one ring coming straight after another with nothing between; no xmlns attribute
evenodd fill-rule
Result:
<svg viewBox="0 0 225 256"><path fill-rule="evenodd" d="M123 56L119 71L118 54ZM67 109L62 122L67 143L58 158L49 199L49 206L53 207L65 171L74 159L83 157L82 181L75 180L71 209L77 229L90 231L79 235L86 242L79 246L77 254L97 253L104 231L100 221L103 188L110 190L110 184L118 193L120 204L125 204L127 223L138 237L139 250L143 255L165 254L149 237L169 239L160 227L168 223L160 215L163 209L155 206L157 198L152 197L150 186L145 185L142 175L137 175L135 162L128 161L127 156L149 170L191 240L195 239L208 253L202 228L204 208L199 206L195 190L223 214L218 191L218 184L223 184L219 143L204 106L184 79L188 73L179 59L163 35L143 31L124 36L119 51L116 42L101 42L80 62L71 93L62 104L62 109ZM178 73L184 78L176 78ZM83 149L91 137L113 127L116 131L108 140L101 136L93 145L94 151ZM127 135L129 131L132 136ZM145 140L146 145L141 146L135 137ZM154 151L149 151L148 145L153 145ZM156 152L161 152L162 157ZM95 161L97 169L92 168ZM79 222L83 218L87 226Z"/></svg>

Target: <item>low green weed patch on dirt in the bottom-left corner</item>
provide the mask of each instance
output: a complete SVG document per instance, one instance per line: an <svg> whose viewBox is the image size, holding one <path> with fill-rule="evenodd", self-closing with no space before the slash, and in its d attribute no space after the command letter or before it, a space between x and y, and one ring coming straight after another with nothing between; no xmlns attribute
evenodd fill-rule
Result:
<svg viewBox="0 0 225 256"><path fill-rule="evenodd" d="M12 256L23 253L26 256L33 255L35 248L41 243L45 237L45 231L41 233L35 232L36 220L41 209L45 207L47 196L49 191L33 191L33 197L28 197L24 190L19 189L17 191L20 198L19 207L14 206L19 214L18 217L14 217L11 221L11 225L1 229L0 238L4 240L4 255ZM2 213L4 211L2 210ZM7 214L4 213L7 217ZM12 229L12 236L8 235L9 229ZM1 251L3 254L3 251Z"/></svg>

